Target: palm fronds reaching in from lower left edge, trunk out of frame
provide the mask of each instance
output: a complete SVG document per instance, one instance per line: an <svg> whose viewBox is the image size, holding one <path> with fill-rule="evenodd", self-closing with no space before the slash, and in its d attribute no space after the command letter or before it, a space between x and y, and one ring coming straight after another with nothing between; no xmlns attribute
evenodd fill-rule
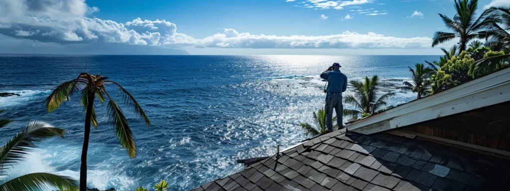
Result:
<svg viewBox="0 0 510 191"><path fill-rule="evenodd" d="M0 113L6 110L0 110ZM0 119L0 128L11 120ZM41 121L30 122L23 130L14 135L7 144L0 147L0 176L7 176L7 170L24 160L30 151L39 147L39 143L56 135L64 138L64 130ZM77 190L78 182L70 177L50 173L31 173L13 178L0 184L0 190L47 190L49 187L60 190Z"/></svg>

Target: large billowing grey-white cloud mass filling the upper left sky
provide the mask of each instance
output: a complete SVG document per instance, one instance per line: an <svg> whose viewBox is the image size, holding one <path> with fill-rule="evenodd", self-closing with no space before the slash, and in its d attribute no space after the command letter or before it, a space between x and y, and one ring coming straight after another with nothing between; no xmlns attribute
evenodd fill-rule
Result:
<svg viewBox="0 0 510 191"><path fill-rule="evenodd" d="M0 1L0 34L57 43L125 43L132 45L186 45L195 40L176 33L165 20L136 18L126 23L88 18L97 12L83 0Z"/></svg>

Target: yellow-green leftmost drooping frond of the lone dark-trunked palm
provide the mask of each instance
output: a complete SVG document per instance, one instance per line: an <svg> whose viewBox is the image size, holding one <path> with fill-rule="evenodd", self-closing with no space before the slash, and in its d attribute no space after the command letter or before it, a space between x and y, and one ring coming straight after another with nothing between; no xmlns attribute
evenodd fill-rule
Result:
<svg viewBox="0 0 510 191"><path fill-rule="evenodd" d="M74 79L57 86L45 100L48 112L53 112L59 108L62 102L68 100L69 96L78 91L77 83L80 82Z"/></svg>

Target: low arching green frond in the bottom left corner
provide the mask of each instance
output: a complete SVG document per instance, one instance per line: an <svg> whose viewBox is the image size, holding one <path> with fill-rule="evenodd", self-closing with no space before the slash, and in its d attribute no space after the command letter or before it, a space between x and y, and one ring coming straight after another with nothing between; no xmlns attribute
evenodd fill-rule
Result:
<svg viewBox="0 0 510 191"><path fill-rule="evenodd" d="M49 173L32 173L11 179L0 184L0 190L5 191L39 191L58 188L60 190L78 190L78 181L67 176Z"/></svg>

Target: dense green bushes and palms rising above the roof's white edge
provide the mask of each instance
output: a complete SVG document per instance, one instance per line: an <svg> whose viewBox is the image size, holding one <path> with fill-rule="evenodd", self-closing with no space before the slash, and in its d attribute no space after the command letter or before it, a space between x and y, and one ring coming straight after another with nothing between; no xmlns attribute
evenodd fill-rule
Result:
<svg viewBox="0 0 510 191"><path fill-rule="evenodd" d="M430 75L431 93L508 67L510 8L491 7L476 17L477 5L477 0L456 0L453 19L439 14L453 32L436 32L432 47L454 38L459 38L460 42L450 51L443 48L445 56L439 62L425 61L433 70ZM487 41L482 43L476 39Z"/></svg>

